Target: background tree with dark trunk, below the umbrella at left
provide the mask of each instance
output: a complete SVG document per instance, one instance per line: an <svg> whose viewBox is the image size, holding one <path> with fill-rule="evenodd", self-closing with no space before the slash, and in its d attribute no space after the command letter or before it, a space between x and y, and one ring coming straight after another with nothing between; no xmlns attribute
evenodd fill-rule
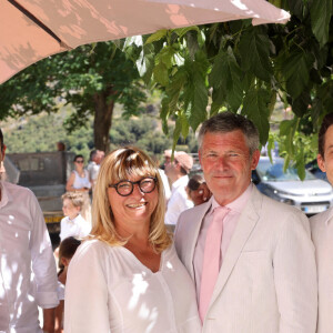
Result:
<svg viewBox="0 0 333 333"><path fill-rule="evenodd" d="M138 114L145 92L138 70L112 42L79 47L30 65L0 85L0 119L58 112L71 104L75 112L64 122L68 132L85 127L95 115L94 144L105 150L113 105Z"/></svg>

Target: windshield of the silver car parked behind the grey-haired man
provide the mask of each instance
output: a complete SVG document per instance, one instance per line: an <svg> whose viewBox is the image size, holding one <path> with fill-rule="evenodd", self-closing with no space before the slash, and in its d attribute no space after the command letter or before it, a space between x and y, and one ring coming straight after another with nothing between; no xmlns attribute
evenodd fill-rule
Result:
<svg viewBox="0 0 333 333"><path fill-rule="evenodd" d="M271 164L270 160L260 161L256 167L256 172L263 181L270 182L287 182L287 181L299 181L297 170L293 167L289 167L283 172L283 161L275 161ZM316 178L305 170L305 180L315 180Z"/></svg>

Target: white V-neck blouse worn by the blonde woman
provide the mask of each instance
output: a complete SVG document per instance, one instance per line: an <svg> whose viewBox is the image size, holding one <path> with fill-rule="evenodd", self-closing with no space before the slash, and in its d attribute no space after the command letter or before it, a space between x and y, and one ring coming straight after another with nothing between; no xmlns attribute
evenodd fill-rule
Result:
<svg viewBox="0 0 333 333"><path fill-rule="evenodd" d="M201 332L193 282L174 246L153 273L123 246L87 241L67 275L67 333Z"/></svg>

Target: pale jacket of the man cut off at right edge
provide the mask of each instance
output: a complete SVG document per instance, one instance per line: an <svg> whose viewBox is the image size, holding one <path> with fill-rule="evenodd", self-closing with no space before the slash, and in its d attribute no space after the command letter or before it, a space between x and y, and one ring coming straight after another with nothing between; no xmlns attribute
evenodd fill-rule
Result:
<svg viewBox="0 0 333 333"><path fill-rule="evenodd" d="M317 333L333 332L333 208L312 216L310 225L315 245L319 279Z"/></svg>

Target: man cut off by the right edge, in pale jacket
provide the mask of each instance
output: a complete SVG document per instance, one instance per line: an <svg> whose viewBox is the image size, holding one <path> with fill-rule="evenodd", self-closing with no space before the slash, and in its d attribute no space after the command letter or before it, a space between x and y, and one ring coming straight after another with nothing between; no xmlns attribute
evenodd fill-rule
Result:
<svg viewBox="0 0 333 333"><path fill-rule="evenodd" d="M319 132L317 165L333 184L333 114ZM319 278L317 333L333 332L333 208L310 219Z"/></svg>

